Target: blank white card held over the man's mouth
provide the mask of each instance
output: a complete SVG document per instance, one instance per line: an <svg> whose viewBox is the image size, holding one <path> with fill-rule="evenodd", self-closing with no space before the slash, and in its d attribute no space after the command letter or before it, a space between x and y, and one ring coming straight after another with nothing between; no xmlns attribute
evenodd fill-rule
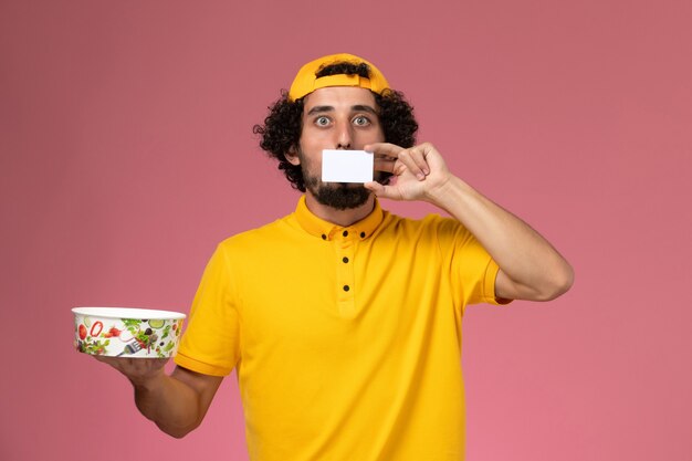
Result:
<svg viewBox="0 0 692 461"><path fill-rule="evenodd" d="M324 149L323 182L369 182L373 180L375 156L365 150Z"/></svg>

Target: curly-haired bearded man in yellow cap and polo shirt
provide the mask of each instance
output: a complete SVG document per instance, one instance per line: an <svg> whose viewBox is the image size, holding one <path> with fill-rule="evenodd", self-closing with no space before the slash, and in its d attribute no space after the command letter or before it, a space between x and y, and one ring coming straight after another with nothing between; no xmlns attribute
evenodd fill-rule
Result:
<svg viewBox="0 0 692 461"><path fill-rule="evenodd" d="M434 146L413 145L411 108L388 86L349 54L303 66L255 126L305 192L295 212L218 247L170 376L161 360L99 358L165 432L197 428L235 369L252 460L463 459L465 306L552 300L573 271ZM323 149L375 153L377 181L323 182ZM452 218L399 218L378 198Z"/></svg>

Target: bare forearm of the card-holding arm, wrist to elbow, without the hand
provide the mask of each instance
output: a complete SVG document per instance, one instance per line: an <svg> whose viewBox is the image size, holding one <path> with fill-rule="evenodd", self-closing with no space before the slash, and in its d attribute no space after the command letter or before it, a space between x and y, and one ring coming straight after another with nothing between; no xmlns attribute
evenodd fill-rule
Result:
<svg viewBox="0 0 692 461"><path fill-rule="evenodd" d="M450 176L428 200L473 233L510 279L516 297L545 301L572 285L572 266L547 240L460 178Z"/></svg>

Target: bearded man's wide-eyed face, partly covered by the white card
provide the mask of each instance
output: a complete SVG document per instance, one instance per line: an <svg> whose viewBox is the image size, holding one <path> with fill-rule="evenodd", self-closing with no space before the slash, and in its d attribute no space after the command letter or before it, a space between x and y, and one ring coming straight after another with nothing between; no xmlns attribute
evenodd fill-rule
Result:
<svg viewBox="0 0 692 461"><path fill-rule="evenodd" d="M369 90L319 88L305 96L300 149L287 157L301 165L305 188L317 202L338 210L364 205L370 192L361 185L322 182L322 150L360 150L385 140L377 104Z"/></svg>

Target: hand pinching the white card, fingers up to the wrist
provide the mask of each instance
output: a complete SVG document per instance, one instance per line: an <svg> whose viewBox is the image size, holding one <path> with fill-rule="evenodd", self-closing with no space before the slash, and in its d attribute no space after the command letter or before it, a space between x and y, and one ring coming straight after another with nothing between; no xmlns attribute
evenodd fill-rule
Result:
<svg viewBox="0 0 692 461"><path fill-rule="evenodd" d="M366 182L378 198L433 201L452 176L438 149L430 143L403 148L389 143L364 146L375 154L375 170L391 172L387 185Z"/></svg>

